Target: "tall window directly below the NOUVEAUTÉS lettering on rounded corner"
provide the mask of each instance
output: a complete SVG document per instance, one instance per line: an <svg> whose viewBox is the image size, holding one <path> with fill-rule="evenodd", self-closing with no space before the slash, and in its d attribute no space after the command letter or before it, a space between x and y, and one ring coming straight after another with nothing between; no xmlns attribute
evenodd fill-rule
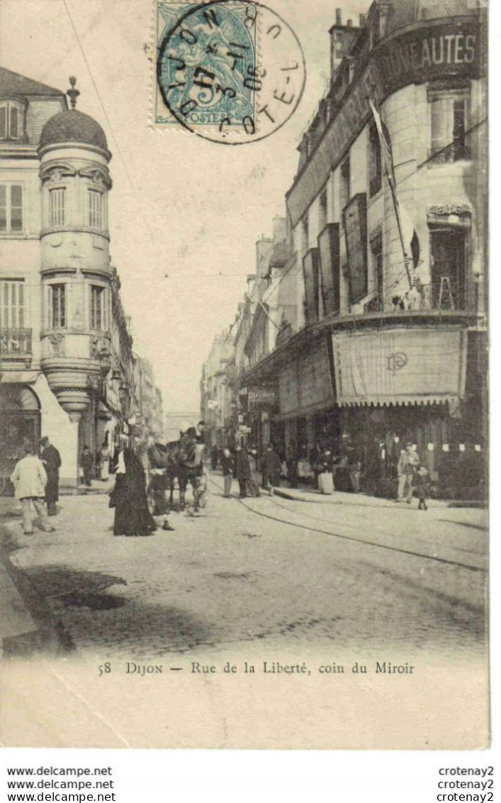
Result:
<svg viewBox="0 0 501 803"><path fill-rule="evenodd" d="M470 93L467 89L429 89L431 120L430 164L469 159L467 144Z"/></svg>

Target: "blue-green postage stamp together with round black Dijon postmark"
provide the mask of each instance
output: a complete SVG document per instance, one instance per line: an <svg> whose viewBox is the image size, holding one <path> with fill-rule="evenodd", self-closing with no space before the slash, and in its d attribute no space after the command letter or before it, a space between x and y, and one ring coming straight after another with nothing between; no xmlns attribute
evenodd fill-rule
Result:
<svg viewBox="0 0 501 803"><path fill-rule="evenodd" d="M156 0L154 124L224 145L268 137L297 108L305 59L292 28L250 0Z"/></svg>

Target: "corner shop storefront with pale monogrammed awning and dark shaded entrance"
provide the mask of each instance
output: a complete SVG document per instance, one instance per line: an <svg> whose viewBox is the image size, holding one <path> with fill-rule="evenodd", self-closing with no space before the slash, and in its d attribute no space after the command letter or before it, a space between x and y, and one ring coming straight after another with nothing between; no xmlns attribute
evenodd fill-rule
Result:
<svg viewBox="0 0 501 803"><path fill-rule="evenodd" d="M394 495L410 442L437 495L483 495L483 437L471 425L478 354L467 332L335 333L333 353L341 430L360 454L366 491Z"/></svg>

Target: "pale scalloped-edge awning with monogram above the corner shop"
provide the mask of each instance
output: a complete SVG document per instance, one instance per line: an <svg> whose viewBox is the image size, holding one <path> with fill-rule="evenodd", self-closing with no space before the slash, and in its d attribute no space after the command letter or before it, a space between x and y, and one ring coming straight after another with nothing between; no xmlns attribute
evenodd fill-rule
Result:
<svg viewBox="0 0 501 803"><path fill-rule="evenodd" d="M409 405L464 396L467 333L391 329L333 334L337 403Z"/></svg>

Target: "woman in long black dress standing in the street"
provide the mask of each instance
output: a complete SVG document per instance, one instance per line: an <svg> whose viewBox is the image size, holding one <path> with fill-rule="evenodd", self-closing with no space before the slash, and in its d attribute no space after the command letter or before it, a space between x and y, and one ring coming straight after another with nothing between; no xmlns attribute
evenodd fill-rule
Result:
<svg viewBox="0 0 501 803"><path fill-rule="evenodd" d="M115 488L111 503L115 506L115 536L150 536L156 524L147 507L146 475L131 449L123 450L123 467L120 463L116 473Z"/></svg>

